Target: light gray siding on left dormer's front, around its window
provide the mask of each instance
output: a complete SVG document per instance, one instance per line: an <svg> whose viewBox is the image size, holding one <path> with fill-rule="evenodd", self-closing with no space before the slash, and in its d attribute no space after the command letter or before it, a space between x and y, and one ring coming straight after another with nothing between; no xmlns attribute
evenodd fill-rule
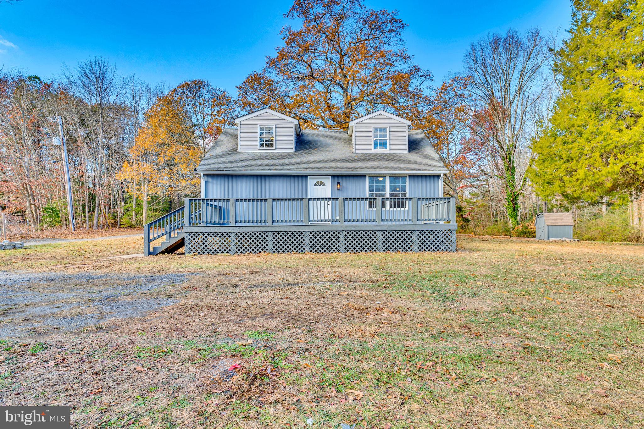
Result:
<svg viewBox="0 0 644 429"><path fill-rule="evenodd" d="M258 149L258 126L275 125L275 149ZM293 152L295 124L274 114L262 113L239 124L239 150L242 152Z"/></svg>

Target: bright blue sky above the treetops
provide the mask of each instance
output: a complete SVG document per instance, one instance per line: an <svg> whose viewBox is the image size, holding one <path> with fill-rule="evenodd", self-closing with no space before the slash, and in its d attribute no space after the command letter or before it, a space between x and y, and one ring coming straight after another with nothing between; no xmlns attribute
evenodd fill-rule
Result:
<svg viewBox="0 0 644 429"><path fill-rule="evenodd" d="M290 22L292 1L40 1L0 3L0 66L44 79L62 63L102 55L120 73L172 87L204 78L234 92L263 66ZM568 0L383 1L370 8L396 8L408 24L404 36L415 62L437 83L458 71L470 42L488 32L540 26L565 37Z"/></svg>

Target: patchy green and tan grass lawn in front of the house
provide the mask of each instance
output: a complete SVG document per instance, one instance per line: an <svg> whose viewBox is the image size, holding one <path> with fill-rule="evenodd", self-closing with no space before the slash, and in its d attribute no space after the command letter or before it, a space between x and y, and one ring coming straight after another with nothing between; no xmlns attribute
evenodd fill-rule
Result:
<svg viewBox="0 0 644 429"><path fill-rule="evenodd" d="M644 426L644 246L109 259L141 246L0 252L15 275L196 273L145 316L0 339L0 405L79 428Z"/></svg>

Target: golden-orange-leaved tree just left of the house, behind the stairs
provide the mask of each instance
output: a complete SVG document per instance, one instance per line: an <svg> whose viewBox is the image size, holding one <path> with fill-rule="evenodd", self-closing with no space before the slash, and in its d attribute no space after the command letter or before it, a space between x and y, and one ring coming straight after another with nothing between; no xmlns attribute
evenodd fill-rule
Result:
<svg viewBox="0 0 644 429"><path fill-rule="evenodd" d="M198 194L194 168L233 116L231 96L204 80L180 84L147 110L120 173L142 189L144 219L149 194L172 197L177 205Z"/></svg>

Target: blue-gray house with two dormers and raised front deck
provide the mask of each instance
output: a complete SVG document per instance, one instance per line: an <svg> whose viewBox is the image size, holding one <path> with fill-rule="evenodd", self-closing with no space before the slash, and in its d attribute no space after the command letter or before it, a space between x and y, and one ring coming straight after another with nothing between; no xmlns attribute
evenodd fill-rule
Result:
<svg viewBox="0 0 644 429"><path fill-rule="evenodd" d="M409 120L379 110L346 130L304 130L261 109L235 122L196 169L200 198L145 226L146 255L184 244L187 254L456 250L446 167Z"/></svg>

